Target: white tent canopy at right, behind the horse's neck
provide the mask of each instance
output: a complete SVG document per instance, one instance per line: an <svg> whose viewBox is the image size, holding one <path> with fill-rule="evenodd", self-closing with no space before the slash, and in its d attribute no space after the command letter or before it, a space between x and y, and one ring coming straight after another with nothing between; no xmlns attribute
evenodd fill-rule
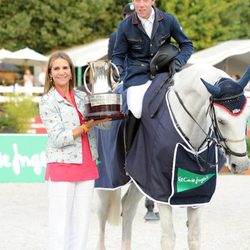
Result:
<svg viewBox="0 0 250 250"><path fill-rule="evenodd" d="M241 75L250 65L250 40L230 40L194 53L188 64L209 63L230 75Z"/></svg>

